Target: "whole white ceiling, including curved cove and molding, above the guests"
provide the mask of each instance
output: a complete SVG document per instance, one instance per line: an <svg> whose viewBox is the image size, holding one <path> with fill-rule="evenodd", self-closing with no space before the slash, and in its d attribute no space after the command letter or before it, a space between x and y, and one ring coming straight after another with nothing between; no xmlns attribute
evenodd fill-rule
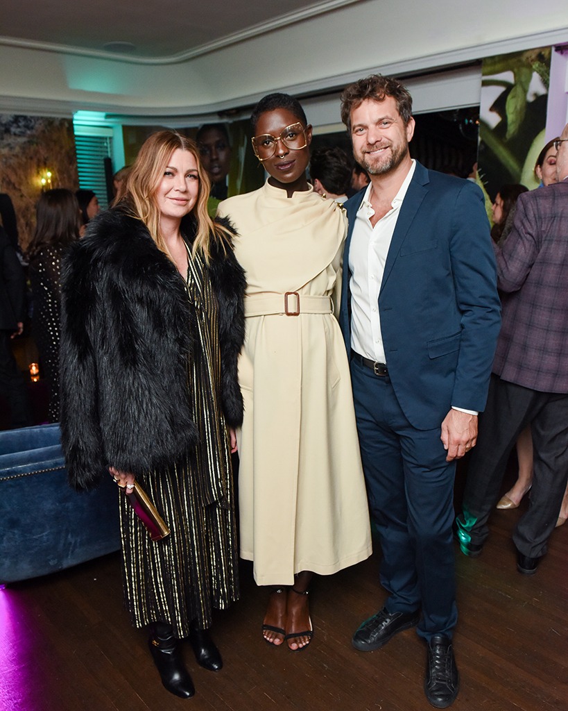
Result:
<svg viewBox="0 0 568 711"><path fill-rule="evenodd" d="M0 0L0 112L197 125L285 91L333 95L335 124L337 92L368 73L567 42L567 0Z"/></svg>

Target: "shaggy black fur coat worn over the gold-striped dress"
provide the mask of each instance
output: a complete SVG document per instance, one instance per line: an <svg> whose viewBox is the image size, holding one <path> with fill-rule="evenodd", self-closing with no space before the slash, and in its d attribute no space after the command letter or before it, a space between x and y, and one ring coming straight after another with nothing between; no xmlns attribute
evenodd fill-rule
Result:
<svg viewBox="0 0 568 711"><path fill-rule="evenodd" d="M246 282L232 250L215 246L209 275L219 302L222 406L237 427ZM92 220L72 245L62 270L60 343L61 440L72 486L92 488L108 466L135 476L160 470L195 446L187 391L192 309L175 265L120 208Z"/></svg>

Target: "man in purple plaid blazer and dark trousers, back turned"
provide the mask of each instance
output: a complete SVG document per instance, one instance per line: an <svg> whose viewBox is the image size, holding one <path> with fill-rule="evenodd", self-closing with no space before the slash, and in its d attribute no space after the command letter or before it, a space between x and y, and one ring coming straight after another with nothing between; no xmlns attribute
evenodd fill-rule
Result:
<svg viewBox="0 0 568 711"><path fill-rule="evenodd" d="M530 505L513 534L517 568L529 575L546 552L568 479L568 124L555 146L558 183L519 196L513 230L495 247L502 327L456 521L461 551L479 555L510 450L530 424Z"/></svg>

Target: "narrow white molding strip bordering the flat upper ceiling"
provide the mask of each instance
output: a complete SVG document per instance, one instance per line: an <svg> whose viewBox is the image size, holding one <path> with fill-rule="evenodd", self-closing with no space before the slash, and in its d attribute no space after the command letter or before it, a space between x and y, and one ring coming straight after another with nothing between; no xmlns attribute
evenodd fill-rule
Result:
<svg viewBox="0 0 568 711"><path fill-rule="evenodd" d="M352 5L361 0L324 0L315 5L310 5L301 10L280 15L266 22L258 23L239 32L234 32L226 35L218 40L205 43L198 47L194 47L184 52L179 52L167 57L141 57L136 55L125 55L122 53L108 52L104 50L92 50L81 47L70 47L59 45L50 42L37 42L33 40L23 40L13 37L0 36L0 45L8 47L16 47L20 49L29 49L42 52L53 52L63 55L75 55L81 57L90 57L93 59L114 60L116 62L127 64L146 64L146 65L165 65L165 64L180 64L187 60L200 57L204 54L214 52L219 49L230 47L245 40L264 35L268 32L293 25L297 22L309 20L312 17L327 14L346 5Z"/></svg>

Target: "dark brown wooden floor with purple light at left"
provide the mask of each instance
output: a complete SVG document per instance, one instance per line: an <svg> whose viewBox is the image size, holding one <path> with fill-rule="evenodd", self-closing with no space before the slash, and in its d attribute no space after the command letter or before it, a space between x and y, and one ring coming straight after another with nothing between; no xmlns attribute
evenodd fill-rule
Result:
<svg viewBox="0 0 568 711"><path fill-rule="evenodd" d="M456 549L461 690L454 711L568 709L568 524L533 577L520 575L510 533L519 511L497 511L481 557ZM378 547L378 546L377 546ZM215 674L185 648L197 693L163 689L146 636L122 609L114 554L0 591L0 711L414 711L425 646L414 630L376 652L351 647L359 623L381 606L380 552L312 589L315 637L305 651L268 646L265 593L242 566L241 601L217 615L224 656Z"/></svg>

